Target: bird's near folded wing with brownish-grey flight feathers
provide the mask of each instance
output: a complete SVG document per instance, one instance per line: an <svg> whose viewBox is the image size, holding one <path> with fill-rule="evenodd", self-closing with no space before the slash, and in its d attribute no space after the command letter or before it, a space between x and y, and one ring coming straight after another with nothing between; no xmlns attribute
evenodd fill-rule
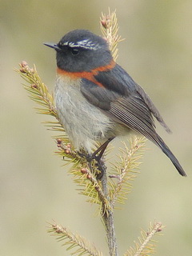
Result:
<svg viewBox="0 0 192 256"><path fill-rule="evenodd" d="M137 91L123 97L114 91L109 93L106 88L101 88L88 80L83 81L81 90L91 104L111 119L154 141L154 118Z"/></svg>

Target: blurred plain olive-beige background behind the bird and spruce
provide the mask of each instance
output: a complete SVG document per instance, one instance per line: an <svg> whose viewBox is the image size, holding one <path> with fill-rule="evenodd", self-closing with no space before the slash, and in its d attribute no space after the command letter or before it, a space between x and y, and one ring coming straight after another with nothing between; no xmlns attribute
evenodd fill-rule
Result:
<svg viewBox="0 0 192 256"><path fill-rule="evenodd" d="M0 2L0 250L1 255L68 255L46 222L77 231L108 254L95 208L75 190L63 162L54 156L54 133L35 114L34 102L14 72L26 60L54 90L55 53L42 42L58 42L77 28L101 34L101 13L117 9L118 63L150 94L173 134L158 133L178 157L188 178L147 142L141 174L122 210L115 212L118 250L123 254L150 221L166 226L159 255L192 252L192 2L181 1L1 1ZM119 139L114 141L118 147ZM117 152L113 152L116 154Z"/></svg>

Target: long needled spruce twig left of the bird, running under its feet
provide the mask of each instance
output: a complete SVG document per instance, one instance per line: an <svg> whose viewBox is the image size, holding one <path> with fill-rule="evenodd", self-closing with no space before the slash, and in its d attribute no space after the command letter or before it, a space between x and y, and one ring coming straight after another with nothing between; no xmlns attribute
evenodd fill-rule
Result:
<svg viewBox="0 0 192 256"><path fill-rule="evenodd" d="M54 106L54 97L42 82L35 66L31 69L28 64L23 61L20 64L20 70L16 71L28 83L24 84L24 88L29 93L30 99L41 106L40 108L35 108L38 114L51 115L56 118L54 122L49 121L44 123L46 127L48 127L48 130L54 130L60 133L59 136L54 136L58 146L56 154L62 156L66 164L74 164L70 169L70 174L73 174L74 182L80 186L80 194L86 195L89 202L97 203L100 206L100 210L102 210L102 214L104 214L105 211L110 209L110 203L102 192L103 188L101 182L97 180L98 166L96 162L93 161L90 166L86 158L82 158L71 146L65 129L58 118Z"/></svg>

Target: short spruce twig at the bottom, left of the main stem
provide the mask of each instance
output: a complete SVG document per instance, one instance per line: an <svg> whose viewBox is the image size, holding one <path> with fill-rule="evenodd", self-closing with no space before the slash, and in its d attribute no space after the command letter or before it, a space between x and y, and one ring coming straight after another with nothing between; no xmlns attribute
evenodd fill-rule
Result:
<svg viewBox="0 0 192 256"><path fill-rule="evenodd" d="M66 250L73 250L70 253L71 255L102 256L102 252L97 250L94 244L91 244L79 234L74 234L66 227L56 223L50 225L51 228L48 232L53 234L58 242L63 242L62 246L67 246Z"/></svg>

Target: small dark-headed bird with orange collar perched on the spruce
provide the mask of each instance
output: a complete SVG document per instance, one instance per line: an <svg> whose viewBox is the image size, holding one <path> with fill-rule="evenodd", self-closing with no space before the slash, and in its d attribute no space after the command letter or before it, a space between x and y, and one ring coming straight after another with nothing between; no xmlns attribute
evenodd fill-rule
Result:
<svg viewBox="0 0 192 256"><path fill-rule="evenodd" d="M186 176L178 159L155 131L154 118L170 133L150 97L111 55L106 39L89 30L72 30L58 43L44 43L56 50L56 109L73 146L102 157L108 143L134 130L154 142ZM153 118L154 117L154 118Z"/></svg>

